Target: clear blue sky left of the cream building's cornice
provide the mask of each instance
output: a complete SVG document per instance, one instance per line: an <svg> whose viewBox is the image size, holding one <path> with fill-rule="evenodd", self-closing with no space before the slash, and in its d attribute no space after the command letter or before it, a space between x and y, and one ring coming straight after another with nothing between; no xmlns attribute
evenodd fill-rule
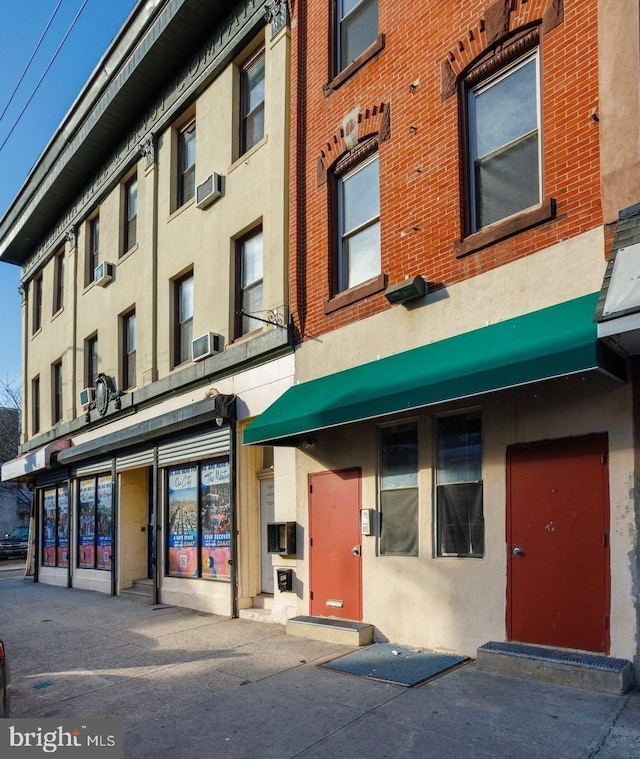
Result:
<svg viewBox="0 0 640 759"><path fill-rule="evenodd" d="M0 0L0 114L4 112L0 118L0 218L136 3L137 0ZM52 16L39 50L5 112ZM27 105L61 43L55 61ZM0 379L18 382L19 281L19 267L0 263Z"/></svg>

